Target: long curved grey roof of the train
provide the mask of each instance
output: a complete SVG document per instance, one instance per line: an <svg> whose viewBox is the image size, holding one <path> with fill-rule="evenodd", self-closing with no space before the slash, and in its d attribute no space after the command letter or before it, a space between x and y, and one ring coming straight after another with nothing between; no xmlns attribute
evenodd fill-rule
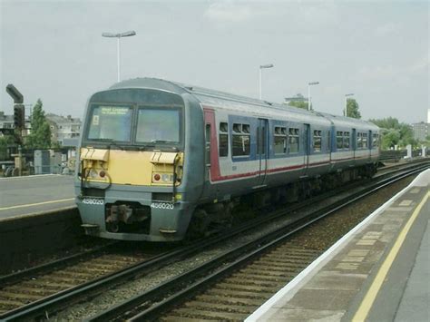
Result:
<svg viewBox="0 0 430 322"><path fill-rule="evenodd" d="M357 123L364 128L378 129L371 123L344 116L332 115L326 112L307 111L294 106L267 102L246 96L210 90L204 87L194 86L186 83L176 83L157 78L134 78L113 84L110 89L145 88L156 89L171 93L189 93L202 104L213 105L219 108L235 110L238 112L251 112L259 117L273 117L299 122L313 122L324 125L334 123L337 126L357 127Z"/></svg>

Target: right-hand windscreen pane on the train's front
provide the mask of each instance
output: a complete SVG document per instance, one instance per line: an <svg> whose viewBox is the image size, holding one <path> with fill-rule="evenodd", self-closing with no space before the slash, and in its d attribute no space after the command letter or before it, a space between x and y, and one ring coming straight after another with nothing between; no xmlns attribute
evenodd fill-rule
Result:
<svg viewBox="0 0 430 322"><path fill-rule="evenodd" d="M136 142L178 143L181 138L181 109L140 108Z"/></svg>

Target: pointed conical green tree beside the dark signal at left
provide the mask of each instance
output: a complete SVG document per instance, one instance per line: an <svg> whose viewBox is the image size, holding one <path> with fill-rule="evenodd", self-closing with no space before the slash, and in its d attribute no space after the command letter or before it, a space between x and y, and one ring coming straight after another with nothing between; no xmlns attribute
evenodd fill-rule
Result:
<svg viewBox="0 0 430 322"><path fill-rule="evenodd" d="M33 107L31 118L32 132L27 137L26 145L33 149L49 149L51 147L51 127L44 116L44 103L38 99Z"/></svg>

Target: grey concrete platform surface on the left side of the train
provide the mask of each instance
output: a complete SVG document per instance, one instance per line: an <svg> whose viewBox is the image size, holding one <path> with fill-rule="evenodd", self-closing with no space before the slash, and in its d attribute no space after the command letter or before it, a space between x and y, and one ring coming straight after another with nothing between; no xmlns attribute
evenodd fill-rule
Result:
<svg viewBox="0 0 430 322"><path fill-rule="evenodd" d="M0 179L0 220L74 205L73 176Z"/></svg>

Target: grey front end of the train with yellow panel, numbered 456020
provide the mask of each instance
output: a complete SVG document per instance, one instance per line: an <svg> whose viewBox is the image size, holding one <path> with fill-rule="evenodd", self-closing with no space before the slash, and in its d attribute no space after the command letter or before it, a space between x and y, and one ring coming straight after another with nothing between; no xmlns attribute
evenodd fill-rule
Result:
<svg viewBox="0 0 430 322"><path fill-rule="evenodd" d="M120 103L131 97L131 104ZM185 143L184 119L189 110L185 104L180 95L155 90L126 89L93 96L75 181L76 203L87 234L122 240L183 239L191 218L191 194L185 190L188 151L200 144ZM118 119L126 114L130 114L128 120ZM128 134L118 137L123 131Z"/></svg>

